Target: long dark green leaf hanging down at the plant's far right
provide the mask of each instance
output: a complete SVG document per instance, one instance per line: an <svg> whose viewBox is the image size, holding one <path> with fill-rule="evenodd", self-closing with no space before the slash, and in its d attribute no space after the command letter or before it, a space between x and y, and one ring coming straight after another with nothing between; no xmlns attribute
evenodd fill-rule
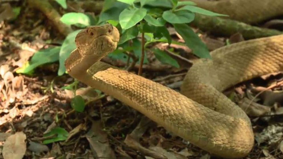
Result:
<svg viewBox="0 0 283 159"><path fill-rule="evenodd" d="M175 30L184 38L186 45L200 58L209 58L209 50L199 36L186 24L173 24Z"/></svg>

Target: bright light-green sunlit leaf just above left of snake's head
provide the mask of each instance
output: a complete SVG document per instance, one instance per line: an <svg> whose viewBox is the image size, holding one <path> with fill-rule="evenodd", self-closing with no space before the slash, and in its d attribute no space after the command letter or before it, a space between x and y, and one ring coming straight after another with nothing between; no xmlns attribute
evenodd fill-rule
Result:
<svg viewBox="0 0 283 159"><path fill-rule="evenodd" d="M66 13L61 18L60 21L65 23L66 25L78 25L80 27L90 26L91 19L88 15L84 13Z"/></svg>

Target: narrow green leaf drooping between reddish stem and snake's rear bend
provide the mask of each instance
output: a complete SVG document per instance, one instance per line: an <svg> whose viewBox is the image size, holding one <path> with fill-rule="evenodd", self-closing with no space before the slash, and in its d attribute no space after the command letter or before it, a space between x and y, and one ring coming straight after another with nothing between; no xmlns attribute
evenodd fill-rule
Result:
<svg viewBox="0 0 283 159"><path fill-rule="evenodd" d="M169 64L171 66L174 66L176 68L180 68L178 62L171 58L166 52L159 50L157 48L153 49L155 57L162 63Z"/></svg>

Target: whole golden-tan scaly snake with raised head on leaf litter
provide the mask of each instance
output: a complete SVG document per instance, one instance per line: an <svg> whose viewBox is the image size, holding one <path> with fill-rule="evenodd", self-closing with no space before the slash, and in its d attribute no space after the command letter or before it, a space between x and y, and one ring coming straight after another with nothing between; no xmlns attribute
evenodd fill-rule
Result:
<svg viewBox="0 0 283 159"><path fill-rule="evenodd" d="M91 26L76 36L65 61L70 76L140 111L168 131L224 158L246 156L254 145L248 116L223 93L239 83L283 68L283 36L231 44L199 59L181 93L99 60L116 49L116 27Z"/></svg>

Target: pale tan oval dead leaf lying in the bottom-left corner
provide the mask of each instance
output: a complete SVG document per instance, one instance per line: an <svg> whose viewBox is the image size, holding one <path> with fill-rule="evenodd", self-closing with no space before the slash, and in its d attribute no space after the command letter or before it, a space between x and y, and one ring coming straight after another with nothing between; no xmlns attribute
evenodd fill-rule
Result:
<svg viewBox="0 0 283 159"><path fill-rule="evenodd" d="M3 145L4 159L22 159L27 149L26 138L23 132L16 132L9 136Z"/></svg>

